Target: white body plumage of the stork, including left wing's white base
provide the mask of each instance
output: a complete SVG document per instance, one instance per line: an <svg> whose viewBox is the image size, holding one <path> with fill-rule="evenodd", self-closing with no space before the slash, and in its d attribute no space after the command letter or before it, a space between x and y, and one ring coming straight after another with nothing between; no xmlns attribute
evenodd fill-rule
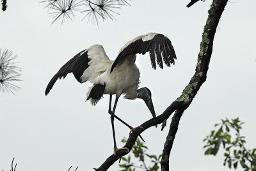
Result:
<svg viewBox="0 0 256 171"><path fill-rule="evenodd" d="M90 80L93 85L106 84L104 94L116 94L116 96L125 94L124 97L127 99L132 100L136 98L140 82L140 71L135 64L136 55L131 55L124 63L111 72L111 66L114 61L109 60L101 45L92 45L84 52L88 52L88 58L91 60L88 63L90 67L84 70L81 76L81 82ZM81 55L84 52L81 52ZM87 97L92 87L86 93ZM96 104L93 99L92 104Z"/></svg>

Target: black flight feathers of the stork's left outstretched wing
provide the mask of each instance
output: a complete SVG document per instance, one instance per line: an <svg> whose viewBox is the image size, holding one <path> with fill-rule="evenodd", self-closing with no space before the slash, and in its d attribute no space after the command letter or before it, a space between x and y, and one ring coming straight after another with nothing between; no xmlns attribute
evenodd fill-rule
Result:
<svg viewBox="0 0 256 171"><path fill-rule="evenodd" d="M77 81L81 82L80 77L83 75L84 70L89 67L88 62L90 59L88 58L87 51L83 50L76 54L72 59L70 59L66 64L64 64L60 70L51 78L49 84L45 89L45 95L47 95L58 78L65 78L68 73L73 73L76 77ZM82 55L80 55L84 52Z"/></svg>

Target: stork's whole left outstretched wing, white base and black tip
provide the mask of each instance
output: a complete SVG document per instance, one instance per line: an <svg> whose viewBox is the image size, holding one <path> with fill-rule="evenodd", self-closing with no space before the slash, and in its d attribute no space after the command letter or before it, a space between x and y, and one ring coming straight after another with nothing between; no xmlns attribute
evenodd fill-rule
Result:
<svg viewBox="0 0 256 171"><path fill-rule="evenodd" d="M92 45L90 48L76 54L52 77L45 89L47 95L58 78L65 78L68 73L73 73L78 82L86 82L97 77L102 71L106 71L109 61L104 48L101 45Z"/></svg>

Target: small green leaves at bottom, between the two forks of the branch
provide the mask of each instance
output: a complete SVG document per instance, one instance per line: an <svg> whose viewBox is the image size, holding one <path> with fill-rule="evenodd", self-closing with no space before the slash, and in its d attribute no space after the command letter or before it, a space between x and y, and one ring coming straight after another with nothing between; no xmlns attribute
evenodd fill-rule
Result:
<svg viewBox="0 0 256 171"><path fill-rule="evenodd" d="M127 142L127 139L122 139L122 142ZM141 162L140 166L135 165L131 161L131 156L129 155L127 158L122 157L122 161L124 161L124 164L120 164L119 167L122 168L120 171L136 171L138 169L140 170L147 170L147 171L157 171L159 169L159 163L161 161L162 155L159 156L156 155L150 155L147 154L148 147L143 144L139 139L136 140L135 144L132 147L132 154L135 158L138 158ZM145 158L150 159L152 162L152 166L147 166L145 163Z"/></svg>

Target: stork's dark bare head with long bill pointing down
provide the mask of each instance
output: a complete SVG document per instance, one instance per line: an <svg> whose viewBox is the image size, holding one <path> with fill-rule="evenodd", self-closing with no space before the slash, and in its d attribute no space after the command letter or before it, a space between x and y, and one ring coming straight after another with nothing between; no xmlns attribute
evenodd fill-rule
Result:
<svg viewBox="0 0 256 171"><path fill-rule="evenodd" d="M137 92L138 92L138 98L141 98L142 100L145 101L152 116L156 117L156 112L155 112L154 105L153 105L152 98L151 98L151 91L147 87L142 87L142 88L138 89ZM157 127L157 125L156 125L156 127Z"/></svg>

